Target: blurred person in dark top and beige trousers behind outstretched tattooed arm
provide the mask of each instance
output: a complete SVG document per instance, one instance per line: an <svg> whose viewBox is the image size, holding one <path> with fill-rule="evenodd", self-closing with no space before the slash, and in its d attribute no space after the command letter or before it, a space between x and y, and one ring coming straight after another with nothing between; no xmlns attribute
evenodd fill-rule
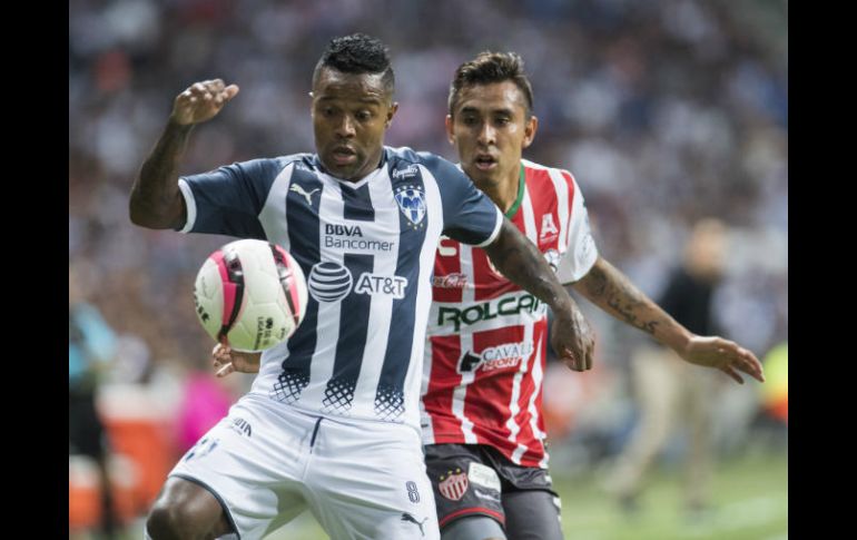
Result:
<svg viewBox="0 0 857 540"><path fill-rule="evenodd" d="M716 219L698 222L686 247L684 264L677 268L658 302L691 332L720 334L711 298L722 276L726 227ZM684 469L684 505L696 514L709 503L710 432L715 381L693 370L674 352L656 344L639 347L631 357L631 379L640 422L620 454L608 489L625 511L639 507L646 475L680 421L688 425Z"/></svg>

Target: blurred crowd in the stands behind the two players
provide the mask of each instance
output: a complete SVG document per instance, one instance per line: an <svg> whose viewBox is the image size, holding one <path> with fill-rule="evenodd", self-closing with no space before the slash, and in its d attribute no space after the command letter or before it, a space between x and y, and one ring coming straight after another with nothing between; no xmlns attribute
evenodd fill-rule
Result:
<svg viewBox="0 0 857 540"><path fill-rule="evenodd" d="M726 223L713 308L725 334L761 357L788 337L787 6L71 0L69 285L118 336L109 379L148 384L171 374L160 380L180 387L188 373L206 371L213 345L195 321L191 287L208 253L228 239L128 219L131 183L175 96L218 77L242 89L195 129L183 173L312 150L313 67L332 37L353 31L380 37L392 52L400 111L387 144L452 160L443 118L455 68L485 49L521 53L540 119L524 157L575 175L601 253L653 297L691 225L707 216ZM599 334L595 376L619 390L579 395L609 401L599 422L618 425L628 359L643 337L585 313Z"/></svg>

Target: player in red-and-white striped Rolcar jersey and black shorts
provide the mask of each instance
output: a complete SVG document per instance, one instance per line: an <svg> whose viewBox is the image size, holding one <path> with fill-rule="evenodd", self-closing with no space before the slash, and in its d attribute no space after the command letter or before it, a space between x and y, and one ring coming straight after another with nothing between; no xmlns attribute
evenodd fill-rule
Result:
<svg viewBox="0 0 857 540"><path fill-rule="evenodd" d="M756 356L690 333L595 248L574 177L522 159L535 136L518 55L483 52L455 72L446 131L461 167L544 254L563 284L686 361L764 381ZM548 474L542 376L546 306L485 251L443 238L423 376L423 441L444 540L561 539Z"/></svg>

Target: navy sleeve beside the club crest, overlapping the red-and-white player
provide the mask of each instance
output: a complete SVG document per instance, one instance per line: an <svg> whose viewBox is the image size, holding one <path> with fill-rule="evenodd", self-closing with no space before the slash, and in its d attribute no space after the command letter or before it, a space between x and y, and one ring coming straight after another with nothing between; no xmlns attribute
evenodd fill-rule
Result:
<svg viewBox="0 0 857 540"><path fill-rule="evenodd" d="M441 190L443 234L477 247L494 242L503 225L500 208L455 165L440 156L421 156Z"/></svg>

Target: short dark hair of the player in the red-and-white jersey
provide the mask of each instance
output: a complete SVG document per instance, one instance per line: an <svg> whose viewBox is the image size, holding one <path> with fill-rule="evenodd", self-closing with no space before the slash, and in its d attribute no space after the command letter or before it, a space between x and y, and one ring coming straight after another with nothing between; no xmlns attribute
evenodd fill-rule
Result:
<svg viewBox="0 0 857 540"><path fill-rule="evenodd" d="M524 96L524 114L533 114L533 87L524 72L524 61L515 52L483 51L476 58L459 66L450 85L450 116L454 116L461 91L471 86L511 80Z"/></svg>

